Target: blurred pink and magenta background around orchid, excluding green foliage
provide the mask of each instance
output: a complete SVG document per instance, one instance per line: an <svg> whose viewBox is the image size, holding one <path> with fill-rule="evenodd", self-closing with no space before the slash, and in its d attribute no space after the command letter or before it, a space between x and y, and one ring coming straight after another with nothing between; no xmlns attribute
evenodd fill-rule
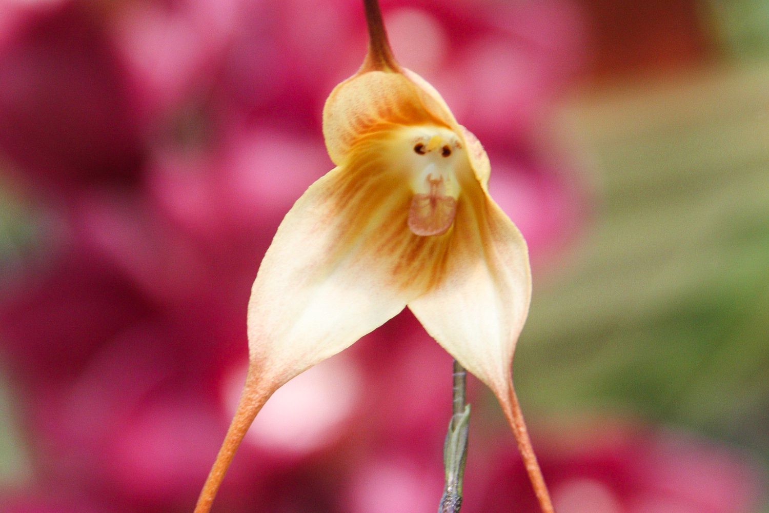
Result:
<svg viewBox="0 0 769 513"><path fill-rule="evenodd" d="M551 130L559 102L720 58L695 2L624 5L382 0L551 290L602 201ZM191 511L244 375L251 281L331 168L321 108L365 38L358 0L0 0L0 511ZM435 511L450 395L451 358L404 312L278 391L215 511ZM728 437L521 398L560 513L764 511L763 464ZM474 380L471 401L462 511L537 511Z"/></svg>

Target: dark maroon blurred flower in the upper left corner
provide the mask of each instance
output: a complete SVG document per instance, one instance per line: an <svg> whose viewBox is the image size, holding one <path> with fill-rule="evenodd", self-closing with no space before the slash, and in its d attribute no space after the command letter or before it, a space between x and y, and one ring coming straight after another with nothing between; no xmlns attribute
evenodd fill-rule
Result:
<svg viewBox="0 0 769 513"><path fill-rule="evenodd" d="M0 45L0 152L50 194L135 181L143 123L110 35L85 4L46 7Z"/></svg>

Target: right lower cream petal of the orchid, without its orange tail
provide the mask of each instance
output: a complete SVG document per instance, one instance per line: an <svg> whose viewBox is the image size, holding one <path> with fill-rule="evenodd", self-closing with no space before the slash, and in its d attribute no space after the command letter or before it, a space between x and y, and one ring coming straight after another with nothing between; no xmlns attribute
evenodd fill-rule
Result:
<svg viewBox="0 0 769 513"><path fill-rule="evenodd" d="M461 365L506 396L531 300L531 271L521 232L478 182L463 187L443 271L408 307Z"/></svg>

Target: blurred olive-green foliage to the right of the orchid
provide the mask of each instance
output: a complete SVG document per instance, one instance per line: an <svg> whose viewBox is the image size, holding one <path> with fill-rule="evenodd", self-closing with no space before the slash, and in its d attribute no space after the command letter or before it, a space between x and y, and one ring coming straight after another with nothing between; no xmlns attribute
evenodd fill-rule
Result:
<svg viewBox="0 0 769 513"><path fill-rule="evenodd" d="M700 431L769 462L769 66L581 98L600 199L537 288L521 397Z"/></svg>

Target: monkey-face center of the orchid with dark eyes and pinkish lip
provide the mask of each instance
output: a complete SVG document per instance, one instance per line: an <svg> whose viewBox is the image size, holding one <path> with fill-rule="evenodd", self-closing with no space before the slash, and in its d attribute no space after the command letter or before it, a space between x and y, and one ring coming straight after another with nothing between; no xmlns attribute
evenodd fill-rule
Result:
<svg viewBox="0 0 769 513"><path fill-rule="evenodd" d="M411 127L404 136L411 145L407 165L413 195L408 228L414 235L442 235L457 214L457 176L461 166L467 165L464 148L448 128Z"/></svg>

